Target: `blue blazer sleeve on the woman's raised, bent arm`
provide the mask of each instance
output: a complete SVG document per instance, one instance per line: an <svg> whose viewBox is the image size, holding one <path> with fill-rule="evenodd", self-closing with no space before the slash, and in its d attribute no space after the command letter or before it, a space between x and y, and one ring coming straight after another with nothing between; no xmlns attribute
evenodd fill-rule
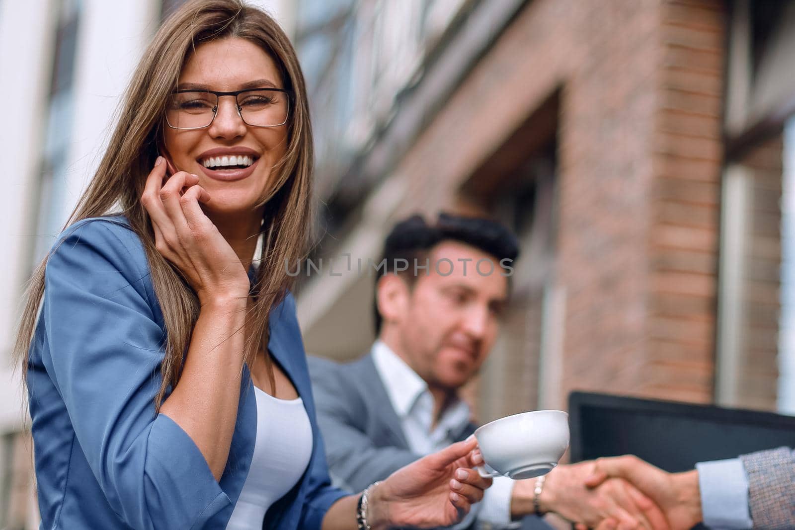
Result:
<svg viewBox="0 0 795 530"><path fill-rule="evenodd" d="M118 516L141 530L197 528L231 501L193 440L154 412L165 331L147 285L132 231L103 220L69 229L45 271L45 367Z"/></svg>

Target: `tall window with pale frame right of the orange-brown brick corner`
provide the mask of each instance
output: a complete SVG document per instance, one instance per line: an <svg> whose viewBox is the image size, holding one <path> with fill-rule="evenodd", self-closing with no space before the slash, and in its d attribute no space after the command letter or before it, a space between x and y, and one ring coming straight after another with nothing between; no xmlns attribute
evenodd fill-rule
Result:
<svg viewBox="0 0 795 530"><path fill-rule="evenodd" d="M795 4L735 0L730 27L715 399L795 412Z"/></svg>

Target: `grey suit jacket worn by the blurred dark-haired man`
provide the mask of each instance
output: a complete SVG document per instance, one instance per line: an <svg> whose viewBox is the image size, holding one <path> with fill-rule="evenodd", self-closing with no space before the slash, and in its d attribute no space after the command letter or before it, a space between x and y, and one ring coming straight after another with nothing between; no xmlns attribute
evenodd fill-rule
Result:
<svg viewBox="0 0 795 530"><path fill-rule="evenodd" d="M347 364L309 357L308 364L317 423L335 486L361 491L421 458L409 450L372 354ZM467 424L451 433L451 438L465 439L475 427ZM539 517L528 516L522 528L551 527Z"/></svg>

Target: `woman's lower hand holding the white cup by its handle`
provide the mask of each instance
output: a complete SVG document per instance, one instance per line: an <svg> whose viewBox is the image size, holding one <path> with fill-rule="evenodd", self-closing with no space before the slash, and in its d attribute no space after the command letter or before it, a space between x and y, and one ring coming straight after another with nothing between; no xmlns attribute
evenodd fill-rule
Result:
<svg viewBox="0 0 795 530"><path fill-rule="evenodd" d="M373 491L373 528L450 526L483 499L491 478L473 466L483 464L475 437L453 443L391 474Z"/></svg>

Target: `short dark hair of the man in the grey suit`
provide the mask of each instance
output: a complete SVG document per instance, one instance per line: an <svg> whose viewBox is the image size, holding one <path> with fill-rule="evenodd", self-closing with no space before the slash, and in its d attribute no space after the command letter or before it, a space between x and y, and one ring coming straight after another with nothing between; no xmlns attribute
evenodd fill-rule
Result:
<svg viewBox="0 0 795 530"><path fill-rule="evenodd" d="M474 246L476 249L496 257L500 263L503 260L509 261L509 265L519 254L519 246L514 234L506 226L491 219L464 217L442 212L434 224L426 222L421 215L412 215L409 219L398 222L386 236L381 253L382 261L380 261L383 266L378 269L380 274L375 277L373 314L376 335L381 331L382 323L381 314L378 312L378 280L386 274L398 274L410 288L417 280L414 263L425 264L430 250L444 241L461 242ZM401 260L405 260L405 262ZM397 261L408 263L409 269L396 270ZM497 267L498 264L495 265L495 270Z"/></svg>

